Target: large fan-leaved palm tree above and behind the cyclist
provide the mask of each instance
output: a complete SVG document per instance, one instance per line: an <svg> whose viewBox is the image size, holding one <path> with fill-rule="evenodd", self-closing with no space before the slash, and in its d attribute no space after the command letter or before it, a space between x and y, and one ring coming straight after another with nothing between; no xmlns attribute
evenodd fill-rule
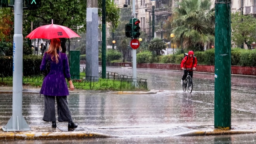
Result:
<svg viewBox="0 0 256 144"><path fill-rule="evenodd" d="M185 47L204 50L204 44L214 43L214 8L210 0L182 0L174 9L173 41Z"/></svg>

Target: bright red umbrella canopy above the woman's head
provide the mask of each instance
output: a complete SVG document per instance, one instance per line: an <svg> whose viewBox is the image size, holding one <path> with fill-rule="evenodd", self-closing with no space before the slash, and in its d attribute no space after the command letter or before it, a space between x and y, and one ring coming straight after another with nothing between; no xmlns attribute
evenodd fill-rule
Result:
<svg viewBox="0 0 256 144"><path fill-rule="evenodd" d="M74 38L79 37L73 30L66 26L60 26L57 24L48 24L45 26L40 26L30 32L26 38L44 38L44 39L53 39L53 38Z"/></svg>

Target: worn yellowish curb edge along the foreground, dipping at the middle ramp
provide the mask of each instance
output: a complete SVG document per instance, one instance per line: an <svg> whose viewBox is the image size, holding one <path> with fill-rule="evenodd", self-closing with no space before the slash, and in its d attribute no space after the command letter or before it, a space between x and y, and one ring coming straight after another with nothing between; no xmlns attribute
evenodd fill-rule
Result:
<svg viewBox="0 0 256 144"><path fill-rule="evenodd" d="M173 136L212 136L253 134L256 130L213 130L195 131ZM122 138L94 132L0 132L0 140L50 140L50 139L86 139L86 138Z"/></svg>

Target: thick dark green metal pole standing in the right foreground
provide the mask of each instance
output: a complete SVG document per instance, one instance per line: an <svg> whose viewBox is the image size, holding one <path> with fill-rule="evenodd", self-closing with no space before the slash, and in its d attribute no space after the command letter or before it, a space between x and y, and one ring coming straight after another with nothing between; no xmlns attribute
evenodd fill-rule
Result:
<svg viewBox="0 0 256 144"><path fill-rule="evenodd" d="M215 3L214 127L231 129L230 0Z"/></svg>

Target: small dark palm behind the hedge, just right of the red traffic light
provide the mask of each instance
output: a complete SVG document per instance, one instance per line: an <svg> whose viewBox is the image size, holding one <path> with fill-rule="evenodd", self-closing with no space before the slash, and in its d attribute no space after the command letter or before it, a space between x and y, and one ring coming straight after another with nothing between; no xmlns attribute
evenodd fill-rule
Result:
<svg viewBox="0 0 256 144"><path fill-rule="evenodd" d="M166 44L160 38L154 38L148 44L148 49L156 52L156 55L161 55L161 51L166 49Z"/></svg>

